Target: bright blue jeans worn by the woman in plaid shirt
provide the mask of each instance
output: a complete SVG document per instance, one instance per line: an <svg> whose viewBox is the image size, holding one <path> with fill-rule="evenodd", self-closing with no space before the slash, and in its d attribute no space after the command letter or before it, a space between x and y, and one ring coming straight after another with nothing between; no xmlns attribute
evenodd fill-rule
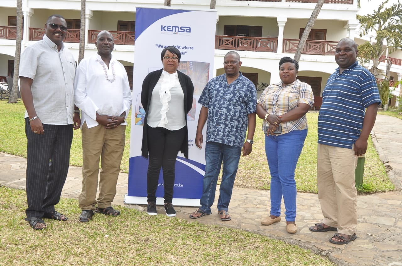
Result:
<svg viewBox="0 0 402 266"><path fill-rule="evenodd" d="M281 216L283 196L287 222L296 218L295 169L306 136L307 129L265 136L265 154L271 172L271 215Z"/></svg>

